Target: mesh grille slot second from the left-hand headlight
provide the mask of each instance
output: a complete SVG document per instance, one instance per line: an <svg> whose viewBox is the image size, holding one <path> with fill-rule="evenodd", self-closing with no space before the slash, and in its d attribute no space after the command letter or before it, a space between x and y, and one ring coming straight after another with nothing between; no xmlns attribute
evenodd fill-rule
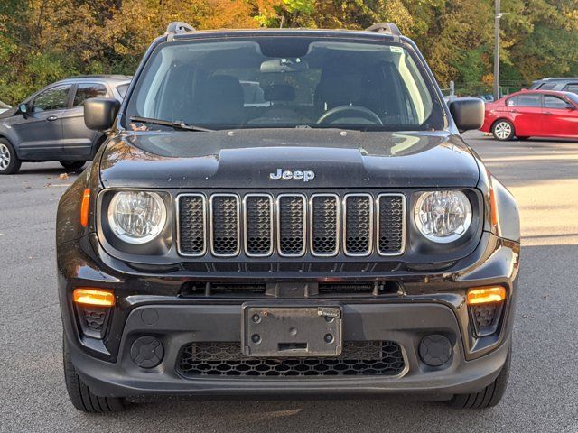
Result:
<svg viewBox="0 0 578 433"><path fill-rule="evenodd" d="M238 197L213 195L212 249L215 255L237 255L238 253Z"/></svg>

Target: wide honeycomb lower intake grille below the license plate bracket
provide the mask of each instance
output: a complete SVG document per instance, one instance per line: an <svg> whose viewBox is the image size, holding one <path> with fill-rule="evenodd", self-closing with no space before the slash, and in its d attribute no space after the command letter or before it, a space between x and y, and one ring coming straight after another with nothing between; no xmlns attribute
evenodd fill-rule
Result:
<svg viewBox="0 0 578 433"><path fill-rule="evenodd" d="M238 342L191 343L182 348L178 370L198 376L395 376L404 371L401 347L391 341L346 342L336 357L252 358Z"/></svg>

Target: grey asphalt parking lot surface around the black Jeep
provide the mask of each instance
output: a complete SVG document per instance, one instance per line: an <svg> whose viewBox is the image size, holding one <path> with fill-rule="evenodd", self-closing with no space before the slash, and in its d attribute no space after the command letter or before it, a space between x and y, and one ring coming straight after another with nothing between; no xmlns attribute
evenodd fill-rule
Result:
<svg viewBox="0 0 578 433"><path fill-rule="evenodd" d="M523 257L508 392L491 410L397 398L157 401L74 410L61 372L54 219L75 176L58 163L0 177L0 431L578 432L578 143L469 142L517 197Z"/></svg>

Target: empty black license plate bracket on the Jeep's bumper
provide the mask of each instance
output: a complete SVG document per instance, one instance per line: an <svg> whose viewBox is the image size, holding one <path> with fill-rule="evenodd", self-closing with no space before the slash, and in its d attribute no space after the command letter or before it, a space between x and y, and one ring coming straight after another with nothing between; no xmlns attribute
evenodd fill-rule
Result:
<svg viewBox="0 0 578 433"><path fill-rule="evenodd" d="M342 316L339 305L244 304L243 354L255 357L339 356L343 346Z"/></svg>

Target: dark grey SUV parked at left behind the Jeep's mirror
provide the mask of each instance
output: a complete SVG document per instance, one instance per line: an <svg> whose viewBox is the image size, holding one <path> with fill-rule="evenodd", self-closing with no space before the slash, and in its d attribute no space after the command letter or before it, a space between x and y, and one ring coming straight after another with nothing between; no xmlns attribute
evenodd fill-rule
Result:
<svg viewBox="0 0 578 433"><path fill-rule="evenodd" d="M89 97L122 100L130 77L86 76L51 84L0 115L0 174L14 174L22 162L61 161L79 170L106 135L84 124Z"/></svg>

